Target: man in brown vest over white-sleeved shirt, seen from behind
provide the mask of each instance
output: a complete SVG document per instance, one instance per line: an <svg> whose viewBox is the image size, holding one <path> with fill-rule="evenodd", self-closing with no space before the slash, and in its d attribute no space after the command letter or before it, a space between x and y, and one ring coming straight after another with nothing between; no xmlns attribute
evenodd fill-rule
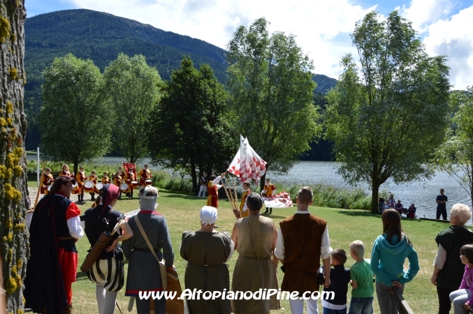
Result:
<svg viewBox="0 0 473 314"><path fill-rule="evenodd" d="M330 240L326 220L318 218L309 212L312 200L312 189L308 186L301 188L296 197L296 214L282 220L277 234L275 257L281 260L285 267L281 289L289 292L319 291L319 285L330 286ZM317 244L317 245L314 245ZM324 283L317 281L317 270L320 260L323 260L325 271ZM307 314L319 313L317 300L308 299ZM291 313L302 314L304 300L289 299Z"/></svg>

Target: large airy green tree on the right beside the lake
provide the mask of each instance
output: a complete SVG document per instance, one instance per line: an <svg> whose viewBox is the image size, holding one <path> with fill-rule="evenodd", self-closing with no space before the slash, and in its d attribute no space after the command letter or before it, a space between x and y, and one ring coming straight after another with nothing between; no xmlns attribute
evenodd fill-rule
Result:
<svg viewBox="0 0 473 314"><path fill-rule="evenodd" d="M342 59L344 71L328 94L326 137L335 142L340 174L351 184L379 186L432 174L426 162L449 125L449 68L445 57L428 57L411 23L397 11L376 12L356 23L351 36L358 63Z"/></svg>

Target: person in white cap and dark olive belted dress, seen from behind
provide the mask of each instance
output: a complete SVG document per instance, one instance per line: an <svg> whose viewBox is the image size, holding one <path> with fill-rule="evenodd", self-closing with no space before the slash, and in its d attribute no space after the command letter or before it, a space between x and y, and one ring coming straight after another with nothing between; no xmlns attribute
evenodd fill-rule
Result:
<svg viewBox="0 0 473 314"><path fill-rule="evenodd" d="M205 206L201 209L201 229L182 232L181 257L187 260L186 289L202 290L203 296L187 300L190 314L230 314L230 300L221 295L204 300L205 294L230 290L230 275L225 264L233 254L233 242L228 232L214 230L217 209Z"/></svg>

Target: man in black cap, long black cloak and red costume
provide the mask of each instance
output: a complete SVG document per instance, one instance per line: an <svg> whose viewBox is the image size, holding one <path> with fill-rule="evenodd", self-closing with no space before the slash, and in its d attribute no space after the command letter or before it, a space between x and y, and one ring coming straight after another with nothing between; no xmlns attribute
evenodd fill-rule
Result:
<svg viewBox="0 0 473 314"><path fill-rule="evenodd" d="M73 184L71 177L57 177L31 218L24 297L35 313L72 313L71 286L78 266L75 242L84 235L80 209L67 198Z"/></svg>

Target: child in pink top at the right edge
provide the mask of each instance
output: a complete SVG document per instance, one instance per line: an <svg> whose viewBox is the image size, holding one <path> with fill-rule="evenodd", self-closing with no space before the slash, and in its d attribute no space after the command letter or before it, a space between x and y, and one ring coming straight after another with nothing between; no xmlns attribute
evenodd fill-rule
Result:
<svg viewBox="0 0 473 314"><path fill-rule="evenodd" d="M473 245L466 244L460 248L460 259L465 264L465 274L458 290L451 292L453 313L470 313L473 308Z"/></svg>

